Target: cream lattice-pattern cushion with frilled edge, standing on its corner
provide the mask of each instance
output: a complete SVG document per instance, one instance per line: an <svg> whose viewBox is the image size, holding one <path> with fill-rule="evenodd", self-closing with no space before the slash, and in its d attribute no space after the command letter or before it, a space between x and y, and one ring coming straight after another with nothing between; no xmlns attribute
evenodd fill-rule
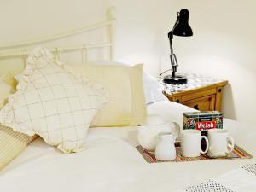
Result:
<svg viewBox="0 0 256 192"><path fill-rule="evenodd" d="M29 136L38 134L65 153L77 152L97 110L108 101L100 84L70 73L47 49L37 48L0 111L0 123Z"/></svg>

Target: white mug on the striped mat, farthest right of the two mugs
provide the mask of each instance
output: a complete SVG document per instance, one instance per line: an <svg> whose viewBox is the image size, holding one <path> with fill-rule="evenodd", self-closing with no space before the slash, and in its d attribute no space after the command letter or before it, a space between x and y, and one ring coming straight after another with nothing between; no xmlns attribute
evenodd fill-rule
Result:
<svg viewBox="0 0 256 192"><path fill-rule="evenodd" d="M233 137L229 136L229 131L223 129L213 129L208 131L209 150L207 152L210 157L224 157L230 154L235 142Z"/></svg>

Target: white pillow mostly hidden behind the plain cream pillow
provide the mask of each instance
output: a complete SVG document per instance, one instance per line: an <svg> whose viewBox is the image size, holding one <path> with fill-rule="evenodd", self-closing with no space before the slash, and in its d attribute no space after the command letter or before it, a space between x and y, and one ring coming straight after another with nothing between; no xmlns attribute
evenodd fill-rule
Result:
<svg viewBox="0 0 256 192"><path fill-rule="evenodd" d="M125 63L116 62L116 61L95 61L90 63L96 64L96 65L131 66L130 64L125 64ZM144 89L146 104L149 104L152 102L168 101L167 97L163 95L162 90L160 89L160 84L157 81L157 79L147 72L143 73L143 89Z"/></svg>

